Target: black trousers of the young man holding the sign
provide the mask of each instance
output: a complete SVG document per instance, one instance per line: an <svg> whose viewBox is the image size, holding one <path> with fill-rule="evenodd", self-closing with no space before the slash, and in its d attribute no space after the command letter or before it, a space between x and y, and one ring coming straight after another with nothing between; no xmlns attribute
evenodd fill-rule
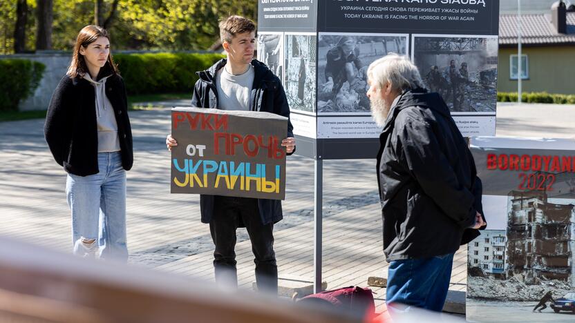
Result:
<svg viewBox="0 0 575 323"><path fill-rule="evenodd" d="M214 272L221 286L238 286L236 270L236 229L245 226L256 264L259 291L277 295L278 267L274 253L274 224L262 224L257 199L216 196L214 215L209 222L214 241Z"/></svg>

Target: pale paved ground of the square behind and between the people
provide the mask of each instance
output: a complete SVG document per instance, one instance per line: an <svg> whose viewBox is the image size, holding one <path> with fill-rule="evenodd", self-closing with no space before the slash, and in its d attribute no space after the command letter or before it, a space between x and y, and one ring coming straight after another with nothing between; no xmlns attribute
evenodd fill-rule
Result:
<svg viewBox="0 0 575 323"><path fill-rule="evenodd" d="M164 106L171 106L167 102ZM164 146L169 110L130 112L135 165L128 175L130 262L211 280L212 244L200 224L198 197L169 193L169 153ZM569 137L575 106L498 106L498 135ZM44 142L44 121L0 123L0 235L58 251L71 248L64 194L65 173ZM275 227L279 274L313 275L313 161L287 161L285 219ZM324 163L323 277L329 288L366 286L368 276L386 277L375 160ZM349 170L355 170L353 173ZM238 235L238 276L243 288L254 280L247 233ZM451 289L466 288L466 250L453 264ZM378 307L385 297L375 288Z"/></svg>

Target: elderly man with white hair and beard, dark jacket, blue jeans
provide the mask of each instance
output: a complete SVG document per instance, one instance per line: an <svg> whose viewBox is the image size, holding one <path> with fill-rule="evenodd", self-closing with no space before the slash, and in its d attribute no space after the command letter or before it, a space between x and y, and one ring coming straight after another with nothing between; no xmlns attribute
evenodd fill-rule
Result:
<svg viewBox="0 0 575 323"><path fill-rule="evenodd" d="M442 311L453 255L487 226L481 181L443 99L427 92L417 67L391 54L368 68L367 95L383 127L377 181L389 262L390 313Z"/></svg>

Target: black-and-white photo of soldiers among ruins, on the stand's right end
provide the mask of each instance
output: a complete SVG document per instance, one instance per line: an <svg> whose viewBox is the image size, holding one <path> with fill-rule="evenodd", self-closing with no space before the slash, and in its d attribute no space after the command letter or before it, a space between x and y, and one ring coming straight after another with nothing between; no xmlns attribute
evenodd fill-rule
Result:
<svg viewBox="0 0 575 323"><path fill-rule="evenodd" d="M497 37L413 36L413 61L451 112L495 112Z"/></svg>

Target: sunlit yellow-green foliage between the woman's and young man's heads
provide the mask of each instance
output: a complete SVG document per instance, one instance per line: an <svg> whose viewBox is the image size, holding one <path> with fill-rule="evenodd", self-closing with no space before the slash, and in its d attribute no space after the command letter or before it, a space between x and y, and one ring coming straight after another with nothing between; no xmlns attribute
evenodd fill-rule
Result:
<svg viewBox="0 0 575 323"><path fill-rule="evenodd" d="M205 50L230 14L256 19L256 0L122 0L111 28L119 48ZM114 41L113 41L114 42Z"/></svg>

